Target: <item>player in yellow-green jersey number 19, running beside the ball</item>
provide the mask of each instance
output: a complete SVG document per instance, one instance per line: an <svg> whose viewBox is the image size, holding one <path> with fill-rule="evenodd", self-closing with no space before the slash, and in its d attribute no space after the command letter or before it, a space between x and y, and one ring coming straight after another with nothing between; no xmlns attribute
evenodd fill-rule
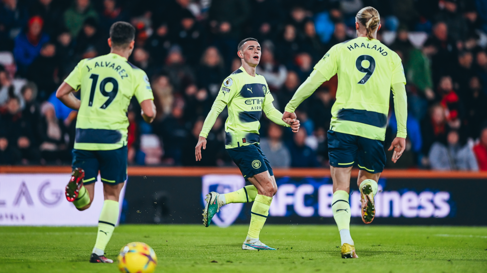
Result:
<svg viewBox="0 0 487 273"><path fill-rule="evenodd" d="M110 27L110 54L81 60L56 92L78 110L73 173L66 198L78 210L90 207L100 171L105 201L90 263L113 263L104 255L118 220L120 191L127 179L127 108L136 96L146 122L156 115L152 89L144 71L127 61L134 49L135 28L127 22ZM72 93L81 90L81 100Z"/></svg>

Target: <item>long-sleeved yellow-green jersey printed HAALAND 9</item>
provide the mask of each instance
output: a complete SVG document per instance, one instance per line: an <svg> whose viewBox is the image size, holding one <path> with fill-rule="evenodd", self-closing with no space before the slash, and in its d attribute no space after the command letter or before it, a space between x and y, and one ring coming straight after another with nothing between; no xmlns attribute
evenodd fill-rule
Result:
<svg viewBox="0 0 487 273"><path fill-rule="evenodd" d="M314 67L310 78L315 80L308 78L307 86L303 84L296 91L286 111L293 112L302 100L335 74L338 74L338 90L331 110L330 130L384 141L391 87L400 84L400 91L393 88L397 136L406 137L406 78L401 59L379 40L367 37L333 46Z"/></svg>

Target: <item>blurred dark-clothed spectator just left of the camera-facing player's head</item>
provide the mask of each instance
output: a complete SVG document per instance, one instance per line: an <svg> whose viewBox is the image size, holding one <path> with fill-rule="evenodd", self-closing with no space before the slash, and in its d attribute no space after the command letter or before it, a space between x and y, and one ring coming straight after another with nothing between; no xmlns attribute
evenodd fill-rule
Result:
<svg viewBox="0 0 487 273"><path fill-rule="evenodd" d="M211 97L215 98L226 76L220 52L214 46L208 47L203 53L197 70L198 86L206 89Z"/></svg>

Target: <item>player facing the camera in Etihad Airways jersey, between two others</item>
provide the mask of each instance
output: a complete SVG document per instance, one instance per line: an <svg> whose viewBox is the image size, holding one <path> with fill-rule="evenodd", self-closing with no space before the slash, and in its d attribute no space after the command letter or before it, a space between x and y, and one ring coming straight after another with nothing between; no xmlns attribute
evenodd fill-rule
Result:
<svg viewBox="0 0 487 273"><path fill-rule="evenodd" d="M282 120L272 101L264 77L255 74L260 61L260 45L256 39L246 38L239 43L237 55L242 67L230 75L222 85L212 109L201 130L195 148L196 160L201 160L201 148L206 149L206 138L218 115L228 106L229 117L225 123L226 148L232 160L239 166L245 180L252 185L226 194L210 192L206 195L203 223L209 226L220 207L229 203L253 202L250 226L243 242L244 250L274 250L259 241L259 233L269 214L272 196L277 192L274 174L259 146L259 127L262 110L276 124L299 130L299 120ZM289 124L290 125L289 125Z"/></svg>

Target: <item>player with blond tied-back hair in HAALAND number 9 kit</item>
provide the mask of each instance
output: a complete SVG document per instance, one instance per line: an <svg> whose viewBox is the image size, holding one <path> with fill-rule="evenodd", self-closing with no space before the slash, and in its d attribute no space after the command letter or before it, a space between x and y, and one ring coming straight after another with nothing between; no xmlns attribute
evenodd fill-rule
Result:
<svg viewBox="0 0 487 273"><path fill-rule="evenodd" d="M357 164L357 185L362 199L362 220L375 216L374 195L386 161L384 138L390 91L398 122L397 136L389 150L392 161L406 146L406 79L399 56L377 40L381 27L379 12L368 6L355 17L357 38L333 46L285 107L283 118L294 118L294 110L323 82L338 74L336 102L331 109L328 149L333 179L333 217L341 238L342 258L358 258L350 236L350 173Z"/></svg>

